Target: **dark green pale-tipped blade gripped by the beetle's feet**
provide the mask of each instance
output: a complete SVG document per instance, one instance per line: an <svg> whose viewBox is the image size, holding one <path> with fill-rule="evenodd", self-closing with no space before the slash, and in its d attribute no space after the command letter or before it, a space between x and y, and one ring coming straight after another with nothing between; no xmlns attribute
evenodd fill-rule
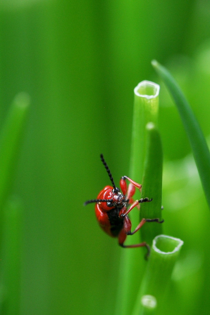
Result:
<svg viewBox="0 0 210 315"><path fill-rule="evenodd" d="M162 143L159 131L153 123L146 125L147 147L144 175L142 180L141 197L152 198L152 201L140 206L140 220L159 218L161 220L162 205ZM153 238L162 233L162 224L156 222L145 223L141 229L141 239L149 245Z"/></svg>

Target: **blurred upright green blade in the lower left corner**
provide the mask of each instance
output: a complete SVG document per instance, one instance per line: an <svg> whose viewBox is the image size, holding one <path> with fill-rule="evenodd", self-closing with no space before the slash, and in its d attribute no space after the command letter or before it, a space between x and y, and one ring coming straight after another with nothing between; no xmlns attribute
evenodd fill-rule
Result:
<svg viewBox="0 0 210 315"><path fill-rule="evenodd" d="M19 315L22 209L16 200L6 203L3 209L3 302L7 315Z"/></svg>

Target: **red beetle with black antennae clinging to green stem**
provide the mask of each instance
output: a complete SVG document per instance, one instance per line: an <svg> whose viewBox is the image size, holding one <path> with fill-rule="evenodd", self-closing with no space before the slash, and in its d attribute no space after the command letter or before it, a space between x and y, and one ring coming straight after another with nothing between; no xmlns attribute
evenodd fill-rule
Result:
<svg viewBox="0 0 210 315"><path fill-rule="evenodd" d="M142 219L139 225L131 232L131 221L128 218L128 213L134 208L138 207L139 203L150 202L152 198L141 198L133 202L133 195L135 193L135 187L141 192L141 185L133 181L127 176L122 176L120 180L120 189L115 186L111 172L104 160L103 154L100 155L101 161L105 166L105 169L110 177L112 187L105 186L102 191L99 192L97 199L88 200L84 203L95 203L95 215L99 222L100 227L111 237L118 237L119 245L124 248L142 247L145 246L148 249L147 255L149 255L150 247L147 243L139 243L134 245L124 245L127 235L133 235L136 233L145 222L157 222L162 223L164 220L159 221L156 219ZM125 179L130 183L128 185ZM130 207L127 209L128 204Z"/></svg>

